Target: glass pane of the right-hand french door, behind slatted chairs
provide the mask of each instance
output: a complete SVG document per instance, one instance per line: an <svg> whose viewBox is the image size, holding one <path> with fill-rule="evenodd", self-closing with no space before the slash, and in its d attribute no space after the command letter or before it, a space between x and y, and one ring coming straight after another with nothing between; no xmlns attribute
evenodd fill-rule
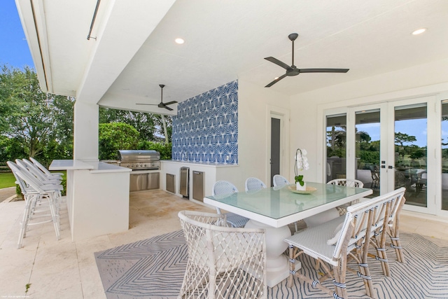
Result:
<svg viewBox="0 0 448 299"><path fill-rule="evenodd" d="M419 207L427 207L426 110L426 104L395 107L395 189L405 187L406 204Z"/></svg>

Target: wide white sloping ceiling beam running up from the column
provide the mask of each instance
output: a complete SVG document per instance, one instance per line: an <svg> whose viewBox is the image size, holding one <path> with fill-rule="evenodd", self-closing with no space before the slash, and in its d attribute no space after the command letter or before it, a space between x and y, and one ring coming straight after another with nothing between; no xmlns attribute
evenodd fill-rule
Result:
<svg viewBox="0 0 448 299"><path fill-rule="evenodd" d="M99 102L174 2L115 0L110 3L102 24L93 27L91 35L97 36L97 40L90 41L96 47L78 87L77 101Z"/></svg>

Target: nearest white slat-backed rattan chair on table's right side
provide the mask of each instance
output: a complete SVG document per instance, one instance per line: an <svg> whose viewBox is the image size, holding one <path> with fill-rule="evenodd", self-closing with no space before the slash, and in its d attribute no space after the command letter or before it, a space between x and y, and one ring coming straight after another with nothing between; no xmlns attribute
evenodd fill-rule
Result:
<svg viewBox="0 0 448 299"><path fill-rule="evenodd" d="M367 295L374 297L372 277L367 264L370 242L365 242L365 240L369 240L377 228L386 229L387 221L384 219L388 214L388 209L404 192L405 189L400 188L391 193L353 204L347 208L342 223L340 218L335 218L286 238L285 242L289 244L290 256L288 286L291 287L294 277L298 277L333 298L347 298L346 271L350 270L363 279ZM316 259L316 271L323 272L320 278L306 277L300 271L295 271L295 260L302 254ZM356 261L357 271L349 269L347 266L349 259ZM326 279L332 279L335 286L334 291L321 284Z"/></svg>

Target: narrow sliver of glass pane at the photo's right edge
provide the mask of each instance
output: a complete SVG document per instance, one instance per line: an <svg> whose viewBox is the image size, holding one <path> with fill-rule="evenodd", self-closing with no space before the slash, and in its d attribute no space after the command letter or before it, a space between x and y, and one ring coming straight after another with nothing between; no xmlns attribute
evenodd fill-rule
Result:
<svg viewBox="0 0 448 299"><path fill-rule="evenodd" d="M442 102L442 209L448 210L448 100Z"/></svg>

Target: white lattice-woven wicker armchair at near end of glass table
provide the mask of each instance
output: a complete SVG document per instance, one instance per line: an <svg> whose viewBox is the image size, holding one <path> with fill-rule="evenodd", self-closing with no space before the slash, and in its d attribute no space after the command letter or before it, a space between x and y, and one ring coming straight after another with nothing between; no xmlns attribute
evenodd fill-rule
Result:
<svg viewBox="0 0 448 299"><path fill-rule="evenodd" d="M178 298L267 298L262 228L229 228L225 214L180 211L188 263Z"/></svg>

